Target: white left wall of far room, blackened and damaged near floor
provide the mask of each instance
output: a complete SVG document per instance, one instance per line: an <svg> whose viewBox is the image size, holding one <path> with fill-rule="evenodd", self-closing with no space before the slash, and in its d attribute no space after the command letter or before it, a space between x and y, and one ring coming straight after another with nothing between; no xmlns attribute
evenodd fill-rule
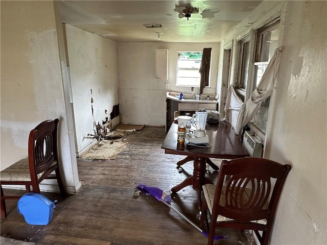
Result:
<svg viewBox="0 0 327 245"><path fill-rule="evenodd" d="M87 136L95 134L94 123L110 119L112 107L119 103L118 52L115 42L72 26L66 25L66 37L80 153L95 141Z"/></svg>

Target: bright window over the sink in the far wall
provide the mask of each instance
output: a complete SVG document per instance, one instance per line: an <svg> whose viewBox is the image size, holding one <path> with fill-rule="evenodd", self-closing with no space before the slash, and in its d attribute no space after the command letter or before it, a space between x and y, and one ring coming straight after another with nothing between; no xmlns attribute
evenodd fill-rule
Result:
<svg viewBox="0 0 327 245"><path fill-rule="evenodd" d="M177 52L176 86L200 86L201 59L202 52Z"/></svg>

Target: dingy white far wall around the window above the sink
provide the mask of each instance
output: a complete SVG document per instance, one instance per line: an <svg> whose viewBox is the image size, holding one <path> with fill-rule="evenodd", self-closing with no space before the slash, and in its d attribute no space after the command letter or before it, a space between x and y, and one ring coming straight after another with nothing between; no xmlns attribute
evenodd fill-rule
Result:
<svg viewBox="0 0 327 245"><path fill-rule="evenodd" d="M134 125L166 125L166 92L191 92L191 87L176 87L178 51L203 51L212 47L210 88L216 94L219 43L119 43L119 102L122 122ZM155 50L168 48L168 81L155 78ZM167 90L165 84L169 83ZM199 88L194 88L199 93Z"/></svg>

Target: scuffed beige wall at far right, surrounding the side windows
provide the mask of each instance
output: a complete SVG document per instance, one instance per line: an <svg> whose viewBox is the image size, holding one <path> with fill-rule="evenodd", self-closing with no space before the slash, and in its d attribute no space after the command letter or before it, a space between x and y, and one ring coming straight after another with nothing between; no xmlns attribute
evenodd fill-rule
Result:
<svg viewBox="0 0 327 245"><path fill-rule="evenodd" d="M246 23L255 26L276 14L282 17L285 49L270 100L264 157L289 163L292 170L270 244L327 244L327 2L263 2L222 45L245 33Z"/></svg>

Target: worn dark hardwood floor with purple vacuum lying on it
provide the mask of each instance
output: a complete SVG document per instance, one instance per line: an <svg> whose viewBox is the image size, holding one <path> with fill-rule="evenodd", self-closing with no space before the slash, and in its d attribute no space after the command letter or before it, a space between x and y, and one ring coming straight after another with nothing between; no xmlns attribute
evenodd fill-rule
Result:
<svg viewBox="0 0 327 245"><path fill-rule="evenodd" d="M62 198L58 193L42 193L52 201L58 200L53 220L46 226L26 224L16 211L16 201L6 200L8 217L1 219L1 235L43 245L206 244L206 237L169 207L152 196L134 196L137 184L170 193L173 186L192 175L192 162L182 165L179 173L176 162L184 157L165 154L160 148L165 136L164 128L145 127L142 133L125 137L128 147L115 160L78 159L82 187L76 194ZM218 159L211 160L219 164ZM215 182L218 172L209 167L206 175ZM172 206L199 224L196 191L188 186L171 195ZM221 229L217 234L229 239L215 244L251 244L248 231Z"/></svg>

